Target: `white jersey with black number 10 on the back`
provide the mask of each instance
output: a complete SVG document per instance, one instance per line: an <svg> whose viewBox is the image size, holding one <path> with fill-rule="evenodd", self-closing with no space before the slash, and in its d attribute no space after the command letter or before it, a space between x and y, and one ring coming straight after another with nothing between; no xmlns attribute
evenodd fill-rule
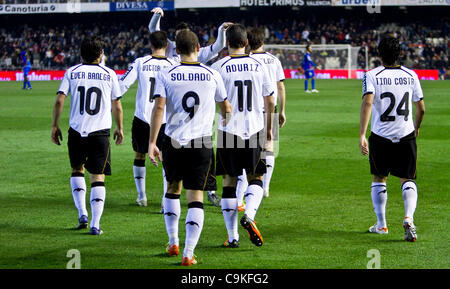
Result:
<svg viewBox="0 0 450 289"><path fill-rule="evenodd" d="M87 137L111 129L111 100L121 97L114 70L98 64L78 64L67 69L58 93L70 92L70 127Z"/></svg>

